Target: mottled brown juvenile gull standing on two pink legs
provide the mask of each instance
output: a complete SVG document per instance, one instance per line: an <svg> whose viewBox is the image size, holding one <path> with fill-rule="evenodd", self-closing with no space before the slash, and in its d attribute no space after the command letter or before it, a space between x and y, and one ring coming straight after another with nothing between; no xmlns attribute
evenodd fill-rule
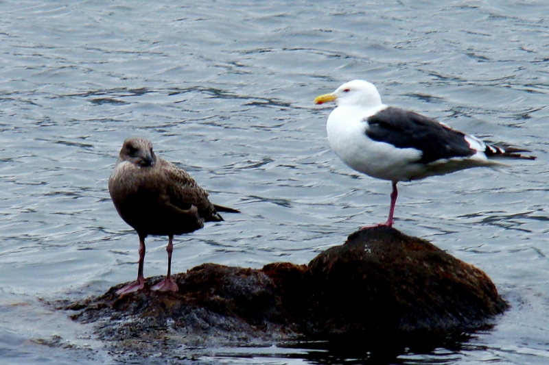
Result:
<svg viewBox="0 0 549 365"><path fill-rule="evenodd" d="M206 190L184 170L171 162L157 158L152 143L144 138L128 138L108 179L108 192L116 210L139 235L139 268L137 280L117 291L135 292L144 286L143 260L145 238L168 236L167 275L152 290L177 291L171 277L172 240L176 234L186 234L204 227L204 222L223 221L219 212L237 210L212 204Z"/></svg>

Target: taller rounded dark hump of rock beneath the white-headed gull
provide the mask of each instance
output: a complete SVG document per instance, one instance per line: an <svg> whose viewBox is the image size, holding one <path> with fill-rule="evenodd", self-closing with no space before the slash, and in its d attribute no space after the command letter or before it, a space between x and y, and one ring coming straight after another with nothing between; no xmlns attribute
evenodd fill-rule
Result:
<svg viewBox="0 0 549 365"><path fill-rule="evenodd" d="M507 304L478 268L389 227L358 231L307 267L303 332L413 342L485 327Z"/></svg>

